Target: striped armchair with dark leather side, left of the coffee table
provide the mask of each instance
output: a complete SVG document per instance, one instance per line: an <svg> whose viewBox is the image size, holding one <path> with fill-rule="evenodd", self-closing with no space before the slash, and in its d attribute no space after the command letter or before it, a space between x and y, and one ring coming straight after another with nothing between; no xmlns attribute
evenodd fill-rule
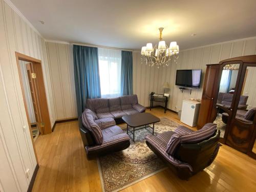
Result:
<svg viewBox="0 0 256 192"><path fill-rule="evenodd" d="M78 119L83 146L89 160L130 146L130 137L116 125L112 117L96 117L93 111L86 109Z"/></svg>

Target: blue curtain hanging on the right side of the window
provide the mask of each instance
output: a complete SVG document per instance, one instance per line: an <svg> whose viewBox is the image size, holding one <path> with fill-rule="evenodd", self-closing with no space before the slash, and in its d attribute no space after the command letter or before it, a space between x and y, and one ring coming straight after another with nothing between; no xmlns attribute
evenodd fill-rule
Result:
<svg viewBox="0 0 256 192"><path fill-rule="evenodd" d="M121 53L121 95L133 94L133 53Z"/></svg>

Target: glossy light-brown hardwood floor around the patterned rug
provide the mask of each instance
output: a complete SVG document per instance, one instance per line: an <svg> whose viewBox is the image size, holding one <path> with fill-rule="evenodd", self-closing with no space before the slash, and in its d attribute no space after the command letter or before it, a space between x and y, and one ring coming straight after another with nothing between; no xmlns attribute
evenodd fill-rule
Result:
<svg viewBox="0 0 256 192"><path fill-rule="evenodd" d="M169 111L164 114L161 108L151 113L181 123L178 115ZM38 137L35 147L40 168L33 191L101 191L97 162L86 159L77 121L56 124L52 134ZM247 192L256 191L255 178L256 160L223 145L214 163L189 181L166 169L122 191Z"/></svg>

